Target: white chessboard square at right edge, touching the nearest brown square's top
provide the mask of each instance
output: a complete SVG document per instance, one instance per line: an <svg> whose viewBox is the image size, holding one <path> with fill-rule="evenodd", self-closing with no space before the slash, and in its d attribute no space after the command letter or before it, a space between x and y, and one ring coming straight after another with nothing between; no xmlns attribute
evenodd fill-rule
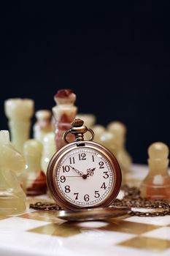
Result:
<svg viewBox="0 0 170 256"><path fill-rule="evenodd" d="M170 240L170 227L160 227L156 230L143 233L142 236Z"/></svg>

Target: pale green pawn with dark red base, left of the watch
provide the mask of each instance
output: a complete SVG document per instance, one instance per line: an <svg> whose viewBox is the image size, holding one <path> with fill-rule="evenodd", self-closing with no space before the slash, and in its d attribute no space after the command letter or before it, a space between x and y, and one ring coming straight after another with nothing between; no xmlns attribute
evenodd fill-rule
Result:
<svg viewBox="0 0 170 256"><path fill-rule="evenodd" d="M47 192L47 185L41 168L42 143L39 140L27 140L23 152L26 159L26 195L43 195Z"/></svg>

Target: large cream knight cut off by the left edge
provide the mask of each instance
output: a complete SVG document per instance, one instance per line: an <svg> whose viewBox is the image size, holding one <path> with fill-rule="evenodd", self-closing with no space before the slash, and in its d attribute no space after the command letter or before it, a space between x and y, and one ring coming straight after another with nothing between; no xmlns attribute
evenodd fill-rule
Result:
<svg viewBox="0 0 170 256"><path fill-rule="evenodd" d="M25 169L25 161L9 142L8 131L0 131L0 151L0 214L20 214L26 210L26 195L16 173Z"/></svg>

